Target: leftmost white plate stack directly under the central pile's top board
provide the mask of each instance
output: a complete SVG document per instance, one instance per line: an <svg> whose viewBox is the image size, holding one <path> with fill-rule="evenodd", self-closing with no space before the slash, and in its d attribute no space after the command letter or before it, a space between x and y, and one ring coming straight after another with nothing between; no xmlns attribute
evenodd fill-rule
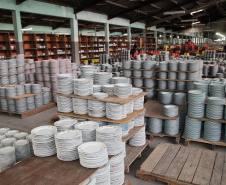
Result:
<svg viewBox="0 0 226 185"><path fill-rule="evenodd" d="M72 98L57 96L57 108L59 112L72 112Z"/></svg>

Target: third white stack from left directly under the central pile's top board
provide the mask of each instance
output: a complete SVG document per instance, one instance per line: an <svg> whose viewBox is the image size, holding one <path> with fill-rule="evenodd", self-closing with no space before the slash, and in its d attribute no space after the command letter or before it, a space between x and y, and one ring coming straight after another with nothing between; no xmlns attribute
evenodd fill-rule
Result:
<svg viewBox="0 0 226 185"><path fill-rule="evenodd" d="M91 117L104 117L106 103L95 100L88 100L88 114Z"/></svg>

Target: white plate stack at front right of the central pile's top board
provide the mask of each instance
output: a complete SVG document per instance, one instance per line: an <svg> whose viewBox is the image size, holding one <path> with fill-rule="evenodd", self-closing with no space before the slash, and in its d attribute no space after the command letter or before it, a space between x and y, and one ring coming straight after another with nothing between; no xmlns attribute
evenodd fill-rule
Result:
<svg viewBox="0 0 226 185"><path fill-rule="evenodd" d="M114 94L119 98L128 98L132 95L132 85L126 83L115 84Z"/></svg>

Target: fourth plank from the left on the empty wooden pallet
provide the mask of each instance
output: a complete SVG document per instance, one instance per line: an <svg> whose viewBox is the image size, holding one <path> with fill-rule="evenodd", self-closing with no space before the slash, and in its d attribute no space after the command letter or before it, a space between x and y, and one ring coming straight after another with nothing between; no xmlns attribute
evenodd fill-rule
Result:
<svg viewBox="0 0 226 185"><path fill-rule="evenodd" d="M178 180L191 183L198 167L199 160L202 155L202 150L196 148L189 149L190 153L188 155L187 161L184 164L183 169L181 170Z"/></svg>

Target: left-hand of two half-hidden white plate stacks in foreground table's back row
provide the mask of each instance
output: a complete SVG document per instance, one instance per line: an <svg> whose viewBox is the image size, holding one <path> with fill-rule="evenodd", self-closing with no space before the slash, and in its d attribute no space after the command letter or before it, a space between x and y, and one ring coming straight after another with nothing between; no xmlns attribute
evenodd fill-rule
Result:
<svg viewBox="0 0 226 185"><path fill-rule="evenodd" d="M78 121L76 119L64 119L60 121L56 121L54 126L57 127L57 131L67 131L67 130L74 130L74 125Z"/></svg>

